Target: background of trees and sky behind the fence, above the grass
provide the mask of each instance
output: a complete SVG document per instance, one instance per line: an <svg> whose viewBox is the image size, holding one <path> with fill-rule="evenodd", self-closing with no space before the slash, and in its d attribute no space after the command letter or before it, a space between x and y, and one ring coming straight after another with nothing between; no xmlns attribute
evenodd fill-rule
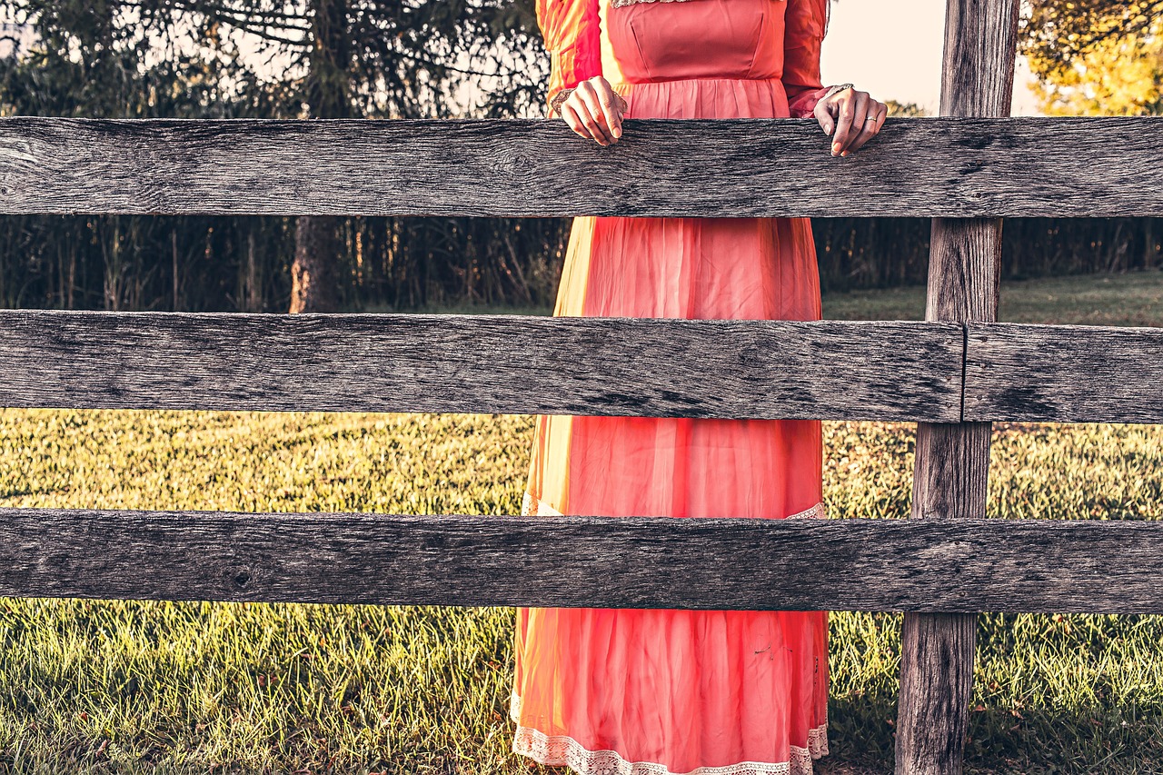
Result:
<svg viewBox="0 0 1163 775"><path fill-rule="evenodd" d="M935 114L944 3L839 0L825 83ZM1019 115L1163 111L1163 2L1022 9ZM540 116L533 0L6 0L0 115ZM545 311L565 219L0 216L0 306ZM825 292L925 282L925 219L818 219ZM1157 270L1160 219L1005 227L1004 278ZM317 278L308 293L295 264Z"/></svg>

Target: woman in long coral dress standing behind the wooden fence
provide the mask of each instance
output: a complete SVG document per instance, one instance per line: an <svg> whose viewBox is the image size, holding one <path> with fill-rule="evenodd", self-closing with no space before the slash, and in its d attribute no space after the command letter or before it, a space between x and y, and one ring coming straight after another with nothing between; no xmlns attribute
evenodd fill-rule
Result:
<svg viewBox="0 0 1163 775"><path fill-rule="evenodd" d="M602 145L623 116L814 115L847 155L884 123L880 102L820 81L827 0L537 0L537 17L551 111ZM818 320L811 225L578 218L554 314ZM815 420L540 417L522 512L822 517L821 464ZM809 773L828 751L827 627L519 609L513 749L585 775Z"/></svg>

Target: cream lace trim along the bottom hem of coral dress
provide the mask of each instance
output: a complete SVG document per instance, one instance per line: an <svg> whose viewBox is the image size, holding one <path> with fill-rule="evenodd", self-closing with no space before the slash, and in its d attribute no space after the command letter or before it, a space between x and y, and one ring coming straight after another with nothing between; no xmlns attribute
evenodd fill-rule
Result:
<svg viewBox="0 0 1163 775"><path fill-rule="evenodd" d="M538 765L565 766L579 775L680 775L652 761L629 761L616 751L590 751L566 734L545 734L521 726L521 697L509 696L509 717L516 723L513 753ZM787 761L741 761L721 767L697 767L682 775L812 775L813 762L828 755L828 723L808 730L807 746L789 746Z"/></svg>

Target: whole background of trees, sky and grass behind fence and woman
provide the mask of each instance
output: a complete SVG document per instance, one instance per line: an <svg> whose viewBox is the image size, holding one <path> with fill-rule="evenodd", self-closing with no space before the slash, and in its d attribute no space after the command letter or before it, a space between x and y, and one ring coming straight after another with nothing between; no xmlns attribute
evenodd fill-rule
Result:
<svg viewBox="0 0 1163 775"><path fill-rule="evenodd" d="M935 114L944 5L836 0L825 83ZM1020 51L1015 114L1163 112L1163 0L1027 2ZM0 115L536 118L547 66L533 0L0 0ZM1007 220L1000 319L1163 326L1160 221ZM569 225L0 215L0 307L545 314ZM826 318L923 317L928 220L815 239ZM0 506L518 514L534 422L0 408ZM828 516L906 517L914 426L822 429ZM1163 426L996 424L987 512L1163 519L1161 471ZM819 772L891 772L900 614L829 623ZM966 773L1163 773L1163 617L978 623ZM0 597L0 774L534 772L512 638L512 609Z"/></svg>

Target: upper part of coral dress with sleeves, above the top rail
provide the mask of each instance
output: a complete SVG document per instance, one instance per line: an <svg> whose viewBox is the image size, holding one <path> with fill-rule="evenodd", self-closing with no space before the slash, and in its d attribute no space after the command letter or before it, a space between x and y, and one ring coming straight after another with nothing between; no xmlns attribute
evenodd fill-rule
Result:
<svg viewBox="0 0 1163 775"><path fill-rule="evenodd" d="M632 109L638 118L704 115L694 101L706 105L708 97L715 111L729 114L722 118L811 115L826 91L820 43L827 6L828 0L537 0L551 63L550 107L583 80L602 76L627 98L641 92L638 86L675 86L648 88L652 107ZM750 105L736 113L734 98L714 98L714 88L747 92ZM682 100L685 107L677 104Z"/></svg>

